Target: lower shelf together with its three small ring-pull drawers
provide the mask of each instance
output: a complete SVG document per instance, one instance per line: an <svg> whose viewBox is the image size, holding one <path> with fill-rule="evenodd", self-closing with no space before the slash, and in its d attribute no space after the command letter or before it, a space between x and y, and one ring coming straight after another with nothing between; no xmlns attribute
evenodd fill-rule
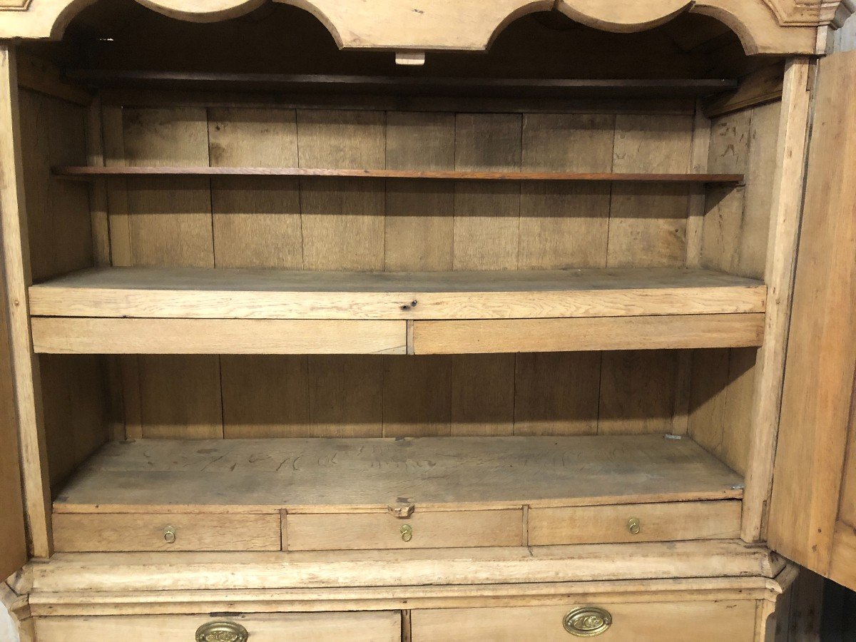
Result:
<svg viewBox="0 0 856 642"><path fill-rule="evenodd" d="M742 480L662 436L110 443L59 551L380 550L736 538Z"/></svg>

